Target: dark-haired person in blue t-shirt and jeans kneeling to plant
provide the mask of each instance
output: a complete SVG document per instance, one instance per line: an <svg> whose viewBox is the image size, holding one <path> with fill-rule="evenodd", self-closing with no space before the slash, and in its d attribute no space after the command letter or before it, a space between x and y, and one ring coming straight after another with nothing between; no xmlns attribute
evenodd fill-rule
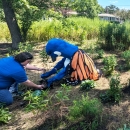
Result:
<svg viewBox="0 0 130 130"><path fill-rule="evenodd" d="M44 88L44 85L37 85L30 81L26 75L25 67L31 70L41 70L29 64L32 59L33 56L29 52L0 59L0 104L11 105L13 103L9 88L14 83L21 83L40 90Z"/></svg>

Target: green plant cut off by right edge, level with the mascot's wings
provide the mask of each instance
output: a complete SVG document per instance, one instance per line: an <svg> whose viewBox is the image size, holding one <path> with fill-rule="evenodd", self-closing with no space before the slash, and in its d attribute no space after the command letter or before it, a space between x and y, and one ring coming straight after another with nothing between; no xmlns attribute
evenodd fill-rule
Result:
<svg viewBox="0 0 130 130"><path fill-rule="evenodd" d="M130 50L124 51L121 55L126 63L126 68L130 69Z"/></svg>

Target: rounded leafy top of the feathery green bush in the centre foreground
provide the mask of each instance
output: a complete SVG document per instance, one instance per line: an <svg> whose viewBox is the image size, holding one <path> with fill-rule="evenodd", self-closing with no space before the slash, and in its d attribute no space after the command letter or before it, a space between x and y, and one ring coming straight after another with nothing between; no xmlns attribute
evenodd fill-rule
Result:
<svg viewBox="0 0 130 130"><path fill-rule="evenodd" d="M101 114L102 105L98 99L90 99L88 96L82 95L81 100L73 101L73 106L69 110L69 115L72 118L80 118L83 116L88 119L94 119Z"/></svg>

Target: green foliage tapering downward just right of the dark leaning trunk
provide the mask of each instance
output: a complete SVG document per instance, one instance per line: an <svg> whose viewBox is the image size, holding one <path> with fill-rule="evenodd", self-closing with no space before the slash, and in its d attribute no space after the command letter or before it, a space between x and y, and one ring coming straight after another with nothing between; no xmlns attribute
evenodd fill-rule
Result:
<svg viewBox="0 0 130 130"><path fill-rule="evenodd" d="M21 27L21 33L23 36L23 41L26 41L27 32L32 25L33 21L41 19L41 13L38 7L31 5L26 0L20 0L19 2L15 0L13 3L13 9L17 12L16 16Z"/></svg>

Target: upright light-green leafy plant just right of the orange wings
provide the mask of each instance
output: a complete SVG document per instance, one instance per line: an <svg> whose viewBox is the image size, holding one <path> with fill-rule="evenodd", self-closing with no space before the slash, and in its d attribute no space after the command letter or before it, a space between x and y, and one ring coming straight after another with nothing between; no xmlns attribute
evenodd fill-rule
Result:
<svg viewBox="0 0 130 130"><path fill-rule="evenodd" d="M103 63L104 63L103 72L105 73L106 76L109 76L115 70L115 67L117 65L117 59L113 55L108 56L108 57L104 57Z"/></svg>

